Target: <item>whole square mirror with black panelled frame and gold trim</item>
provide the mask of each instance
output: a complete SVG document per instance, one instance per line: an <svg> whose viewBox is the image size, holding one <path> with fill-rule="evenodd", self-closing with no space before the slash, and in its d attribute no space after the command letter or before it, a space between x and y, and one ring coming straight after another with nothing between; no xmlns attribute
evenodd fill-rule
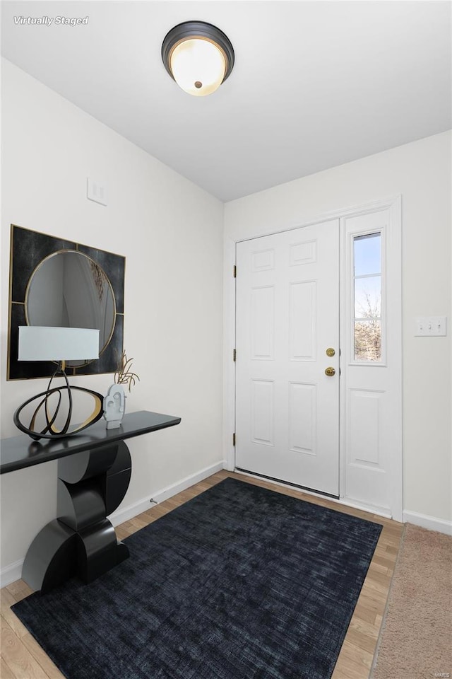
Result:
<svg viewBox="0 0 452 679"><path fill-rule="evenodd" d="M94 327L99 359L73 375L112 373L123 350L125 257L11 225L8 380L50 377L54 364L18 361L18 326Z"/></svg>

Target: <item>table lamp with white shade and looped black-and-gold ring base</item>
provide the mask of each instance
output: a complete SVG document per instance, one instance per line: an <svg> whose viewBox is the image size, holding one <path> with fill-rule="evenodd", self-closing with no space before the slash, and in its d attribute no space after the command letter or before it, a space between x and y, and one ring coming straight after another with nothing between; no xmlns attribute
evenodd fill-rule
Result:
<svg viewBox="0 0 452 679"><path fill-rule="evenodd" d="M14 424L36 441L39 439L54 439L78 434L87 426L97 422L102 417L103 396L90 389L70 386L66 376L66 361L80 361L99 358L99 330L85 327L46 327L42 325L20 325L18 342L18 361L58 361L58 367L50 378L47 391L43 391L20 405L14 413ZM52 380L62 376L65 384L52 387ZM85 392L93 396L95 407L85 422L69 430L72 415L72 390ZM68 395L66 421L57 429L55 424L60 411L62 394ZM57 395L57 404L53 414L50 412L49 397ZM40 400L35 407L30 420L30 426L20 422L20 413L32 401ZM37 416L43 407L45 425L41 431L35 429Z"/></svg>

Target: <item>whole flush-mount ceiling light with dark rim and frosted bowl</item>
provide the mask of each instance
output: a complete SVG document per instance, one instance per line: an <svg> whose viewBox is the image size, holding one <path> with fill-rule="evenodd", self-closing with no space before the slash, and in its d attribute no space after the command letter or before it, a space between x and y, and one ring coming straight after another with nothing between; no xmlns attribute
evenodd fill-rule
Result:
<svg viewBox="0 0 452 679"><path fill-rule="evenodd" d="M203 97L215 92L230 75L234 49L227 35L211 23L184 21L165 35L162 59L179 87Z"/></svg>

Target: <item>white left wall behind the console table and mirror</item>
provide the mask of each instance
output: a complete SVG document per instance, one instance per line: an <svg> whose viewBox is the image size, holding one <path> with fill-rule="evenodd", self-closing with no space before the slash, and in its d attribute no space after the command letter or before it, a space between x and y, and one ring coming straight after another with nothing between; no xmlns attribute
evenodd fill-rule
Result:
<svg viewBox="0 0 452 679"><path fill-rule="evenodd" d="M2 63L1 435L44 380L6 382L9 227L126 256L124 347L141 381L126 407L182 417L132 439L122 506L222 460L223 206L49 88ZM152 125L153 121L149 120ZM86 199L105 180L108 207ZM112 375L73 382L105 393ZM1 477L1 565L57 512L57 463Z"/></svg>

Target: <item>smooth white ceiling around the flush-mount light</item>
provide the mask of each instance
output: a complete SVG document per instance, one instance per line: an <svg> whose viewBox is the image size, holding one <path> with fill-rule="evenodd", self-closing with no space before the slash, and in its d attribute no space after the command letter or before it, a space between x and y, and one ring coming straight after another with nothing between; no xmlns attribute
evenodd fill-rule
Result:
<svg viewBox="0 0 452 679"><path fill-rule="evenodd" d="M7 59L224 201L451 127L448 1L4 1L2 15ZM234 45L208 97L160 57L190 19Z"/></svg>

